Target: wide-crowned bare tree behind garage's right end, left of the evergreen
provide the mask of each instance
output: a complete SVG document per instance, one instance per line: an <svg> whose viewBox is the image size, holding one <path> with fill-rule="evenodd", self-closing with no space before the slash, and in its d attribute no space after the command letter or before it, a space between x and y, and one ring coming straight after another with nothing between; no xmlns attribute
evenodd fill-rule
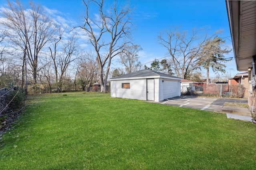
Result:
<svg viewBox="0 0 256 170"><path fill-rule="evenodd" d="M168 50L176 75L184 79L197 68L194 61L207 39L208 35L200 34L200 29L193 29L190 35L187 31L179 32L177 28L169 29L158 36L160 44Z"/></svg>

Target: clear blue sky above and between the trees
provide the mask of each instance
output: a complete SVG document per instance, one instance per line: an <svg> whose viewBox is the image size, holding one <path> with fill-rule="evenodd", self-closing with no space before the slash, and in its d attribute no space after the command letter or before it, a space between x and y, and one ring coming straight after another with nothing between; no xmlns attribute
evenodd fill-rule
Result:
<svg viewBox="0 0 256 170"><path fill-rule="evenodd" d="M21 2L27 4L28 0ZM34 0L34 2L41 3L51 10L55 17L60 16L69 25L80 25L84 8L82 0ZM4 3L5 0L0 0L0 6ZM157 36L160 31L175 26L187 31L203 27L209 34L223 29L220 36L227 37L226 45L232 48L225 0L130 0L130 4L134 7L132 20L135 26L134 43L141 45L143 49L139 54L142 64L168 55L168 51L158 43ZM234 57L233 51L225 57ZM112 68L117 66L114 64L117 64L115 60ZM150 63L147 65L150 66ZM226 63L226 66L226 71L231 73L231 76L238 73L234 60ZM206 75L205 70L202 70L202 75ZM215 74L210 72L210 77L214 76Z"/></svg>

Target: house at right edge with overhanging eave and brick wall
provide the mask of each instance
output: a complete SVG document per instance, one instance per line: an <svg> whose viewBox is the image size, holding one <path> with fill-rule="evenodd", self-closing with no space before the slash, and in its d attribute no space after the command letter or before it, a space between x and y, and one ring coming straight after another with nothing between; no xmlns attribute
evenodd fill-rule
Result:
<svg viewBox="0 0 256 170"><path fill-rule="evenodd" d="M226 7L236 69L248 71L248 105L255 111L256 1L226 0Z"/></svg>

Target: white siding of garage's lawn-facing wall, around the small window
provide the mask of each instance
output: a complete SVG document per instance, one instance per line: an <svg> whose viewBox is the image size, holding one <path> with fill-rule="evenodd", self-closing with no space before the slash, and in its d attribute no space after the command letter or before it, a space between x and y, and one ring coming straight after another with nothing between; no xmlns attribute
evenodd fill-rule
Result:
<svg viewBox="0 0 256 170"><path fill-rule="evenodd" d="M122 88L122 83L130 83L130 88ZM147 100L146 94L146 79L113 80L110 82L111 97Z"/></svg>

